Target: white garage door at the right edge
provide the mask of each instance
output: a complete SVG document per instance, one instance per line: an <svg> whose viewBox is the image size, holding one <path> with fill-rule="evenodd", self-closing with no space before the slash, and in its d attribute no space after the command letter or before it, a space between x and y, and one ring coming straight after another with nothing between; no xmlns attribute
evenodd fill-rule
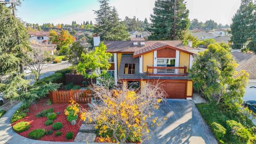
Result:
<svg viewBox="0 0 256 144"><path fill-rule="evenodd" d="M249 82L244 95L244 101L256 100L256 83Z"/></svg>

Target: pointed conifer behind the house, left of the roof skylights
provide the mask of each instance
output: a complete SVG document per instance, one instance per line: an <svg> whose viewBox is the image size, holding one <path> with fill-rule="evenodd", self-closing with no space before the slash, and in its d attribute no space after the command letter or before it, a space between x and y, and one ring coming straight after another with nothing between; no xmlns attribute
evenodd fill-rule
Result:
<svg viewBox="0 0 256 144"><path fill-rule="evenodd" d="M93 33L100 34L103 41L122 41L128 39L128 31L123 22L120 22L115 7L109 6L109 0L99 0L100 9L94 11L97 15Z"/></svg>

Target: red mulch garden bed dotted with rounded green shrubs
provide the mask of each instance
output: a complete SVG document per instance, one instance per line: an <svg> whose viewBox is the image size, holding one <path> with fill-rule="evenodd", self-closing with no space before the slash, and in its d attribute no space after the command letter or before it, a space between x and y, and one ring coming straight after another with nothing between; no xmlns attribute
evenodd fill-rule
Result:
<svg viewBox="0 0 256 144"><path fill-rule="evenodd" d="M13 130L30 139L74 141L82 121L78 116L67 118L65 110L68 105L51 104L49 99L42 98L28 108L21 107L12 116ZM87 108L86 104L81 106ZM73 119L77 119L75 125L71 124Z"/></svg>

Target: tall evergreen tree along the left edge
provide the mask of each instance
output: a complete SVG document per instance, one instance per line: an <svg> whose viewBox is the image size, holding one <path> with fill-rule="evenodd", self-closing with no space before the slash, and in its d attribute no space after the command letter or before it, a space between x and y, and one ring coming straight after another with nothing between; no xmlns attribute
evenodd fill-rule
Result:
<svg viewBox="0 0 256 144"><path fill-rule="evenodd" d="M13 8L13 7L12 7ZM11 9L0 4L0 90L5 98L18 97L17 89L26 89L28 82L18 74L20 65L29 51L28 34ZM17 35L18 34L18 35ZM3 86L4 85L4 86Z"/></svg>

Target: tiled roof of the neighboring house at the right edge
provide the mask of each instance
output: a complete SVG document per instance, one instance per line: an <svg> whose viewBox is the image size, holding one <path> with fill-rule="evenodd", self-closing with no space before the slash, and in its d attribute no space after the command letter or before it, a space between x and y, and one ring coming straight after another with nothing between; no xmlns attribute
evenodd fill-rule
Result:
<svg viewBox="0 0 256 144"><path fill-rule="evenodd" d="M238 71L245 70L249 73L250 80L256 80L256 55L253 53L232 52L234 59L238 63Z"/></svg>

